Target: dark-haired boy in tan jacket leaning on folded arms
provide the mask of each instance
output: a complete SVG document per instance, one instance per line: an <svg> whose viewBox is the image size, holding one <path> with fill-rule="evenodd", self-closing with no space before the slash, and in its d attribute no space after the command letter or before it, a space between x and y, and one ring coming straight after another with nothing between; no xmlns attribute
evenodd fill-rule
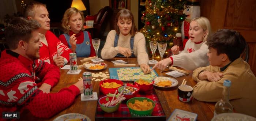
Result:
<svg viewBox="0 0 256 121"><path fill-rule="evenodd" d="M240 54L245 39L234 30L218 30L206 43L210 66L193 72L193 97L199 101L217 102L222 97L224 80L231 81L230 103L238 113L256 117L256 77Z"/></svg>

